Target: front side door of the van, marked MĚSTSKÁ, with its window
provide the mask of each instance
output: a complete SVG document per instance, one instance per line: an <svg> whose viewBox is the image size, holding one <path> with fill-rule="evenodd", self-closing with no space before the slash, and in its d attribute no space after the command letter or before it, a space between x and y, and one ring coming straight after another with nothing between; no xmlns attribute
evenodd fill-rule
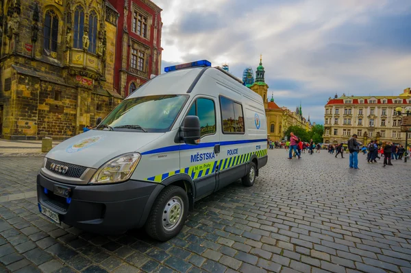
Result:
<svg viewBox="0 0 411 273"><path fill-rule="evenodd" d="M198 95L193 100L186 115L196 115L200 119L201 142L199 145L180 146L180 166L195 182L196 196L201 198L216 189L216 161L220 139L216 130L217 98ZM218 149L217 149L218 150Z"/></svg>

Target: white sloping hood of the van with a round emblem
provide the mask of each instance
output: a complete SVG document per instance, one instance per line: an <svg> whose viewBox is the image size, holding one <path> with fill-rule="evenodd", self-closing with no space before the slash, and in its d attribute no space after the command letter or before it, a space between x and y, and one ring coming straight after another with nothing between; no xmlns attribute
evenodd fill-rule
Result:
<svg viewBox="0 0 411 273"><path fill-rule="evenodd" d="M47 154L47 158L98 169L110 159L139 150L164 133L90 130L68 139Z"/></svg>

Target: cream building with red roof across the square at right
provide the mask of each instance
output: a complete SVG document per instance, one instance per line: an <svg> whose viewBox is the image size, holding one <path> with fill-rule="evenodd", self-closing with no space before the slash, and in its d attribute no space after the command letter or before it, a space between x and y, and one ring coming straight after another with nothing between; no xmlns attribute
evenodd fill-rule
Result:
<svg viewBox="0 0 411 273"><path fill-rule="evenodd" d="M411 89L404 89L398 96L343 96L328 99L324 115L324 142L340 143L357 134L362 143L378 141L406 142L401 132L401 115L395 108L411 106ZM411 133L408 133L411 138Z"/></svg>

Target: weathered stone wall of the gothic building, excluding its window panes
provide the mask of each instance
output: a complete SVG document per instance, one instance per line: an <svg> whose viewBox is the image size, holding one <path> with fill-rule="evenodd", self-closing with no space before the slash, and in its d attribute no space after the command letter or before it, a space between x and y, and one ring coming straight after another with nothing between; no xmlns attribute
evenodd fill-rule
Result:
<svg viewBox="0 0 411 273"><path fill-rule="evenodd" d="M69 5L60 5L54 0L27 0L20 3L18 32L3 35L1 44L0 107L3 111L0 137L73 137L82 132L84 126L95 126L98 117L106 117L121 102L121 98L113 93L116 25L104 20L104 12L98 12L99 27L104 26L103 29L99 28L99 39L103 39L100 34L105 33L107 47L105 56L100 51L90 54L82 49L72 49L73 38L70 45L66 45L66 33L70 29L66 17ZM38 22L34 20L36 3ZM105 8L105 2L101 0L84 0L80 4L86 10ZM45 12L50 9L59 19L58 49L53 53L43 49ZM73 21L73 7L70 9ZM38 25L36 41L32 40L34 25ZM76 63L70 52L86 58L86 64ZM91 84L87 82L90 80ZM5 91L6 85L10 86L8 91Z"/></svg>

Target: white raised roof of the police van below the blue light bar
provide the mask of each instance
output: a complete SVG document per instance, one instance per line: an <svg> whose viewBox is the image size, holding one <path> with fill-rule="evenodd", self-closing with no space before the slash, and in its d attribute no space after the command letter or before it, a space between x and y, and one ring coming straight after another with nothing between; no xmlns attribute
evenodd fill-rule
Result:
<svg viewBox="0 0 411 273"><path fill-rule="evenodd" d="M251 91L250 88L240 84L241 81L238 78L223 71L223 69L219 67L193 67L160 74L140 86L140 88L134 91L134 93L129 95L126 99L149 95L186 95L193 82L197 82L203 75L207 75L220 82L225 82L226 84L233 84L240 88L243 95L247 95L253 99L261 99L260 95Z"/></svg>

